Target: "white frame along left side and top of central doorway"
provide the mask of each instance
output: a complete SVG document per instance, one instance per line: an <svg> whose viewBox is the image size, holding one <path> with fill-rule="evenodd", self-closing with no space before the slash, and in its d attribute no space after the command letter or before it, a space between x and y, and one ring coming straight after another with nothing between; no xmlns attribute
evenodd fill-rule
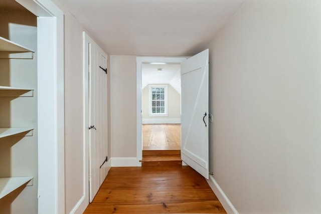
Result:
<svg viewBox="0 0 321 214"><path fill-rule="evenodd" d="M136 57L136 166L141 166L142 159L142 106L141 106L141 68L143 63L181 63L188 57Z"/></svg>

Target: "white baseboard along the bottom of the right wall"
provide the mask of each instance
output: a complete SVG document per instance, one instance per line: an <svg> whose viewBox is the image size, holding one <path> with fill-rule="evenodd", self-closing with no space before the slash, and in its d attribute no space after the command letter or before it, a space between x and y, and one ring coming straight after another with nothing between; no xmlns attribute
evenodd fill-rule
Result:
<svg viewBox="0 0 321 214"><path fill-rule="evenodd" d="M221 204L224 207L224 209L226 210L226 212L228 214L232 214L232 213L239 214L239 212L233 206L233 204L228 199L226 194L223 192L223 190L221 189L219 184L216 182L216 180L214 179L213 175L209 176L209 179L207 180L207 182L209 183L210 187L214 191L215 195L217 196L217 198L221 202Z"/></svg>

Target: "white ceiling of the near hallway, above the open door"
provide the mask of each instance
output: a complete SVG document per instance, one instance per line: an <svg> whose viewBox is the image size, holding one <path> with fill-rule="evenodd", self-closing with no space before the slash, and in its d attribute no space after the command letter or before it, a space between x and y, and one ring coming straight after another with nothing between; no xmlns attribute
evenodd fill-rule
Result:
<svg viewBox="0 0 321 214"><path fill-rule="evenodd" d="M242 0L58 0L109 54L192 56Z"/></svg>

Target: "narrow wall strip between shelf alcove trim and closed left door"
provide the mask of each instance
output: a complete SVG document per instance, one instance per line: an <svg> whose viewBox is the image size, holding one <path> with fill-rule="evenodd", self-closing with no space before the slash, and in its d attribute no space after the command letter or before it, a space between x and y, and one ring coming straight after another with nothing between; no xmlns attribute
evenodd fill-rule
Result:
<svg viewBox="0 0 321 214"><path fill-rule="evenodd" d="M65 202L66 213L69 213L78 206L77 203L83 196L83 174L87 173L82 164L85 130L83 127L82 33L86 29L60 2L57 0L54 2L64 12L65 25ZM88 201L84 202L88 204ZM76 213L80 213L79 209Z"/></svg>

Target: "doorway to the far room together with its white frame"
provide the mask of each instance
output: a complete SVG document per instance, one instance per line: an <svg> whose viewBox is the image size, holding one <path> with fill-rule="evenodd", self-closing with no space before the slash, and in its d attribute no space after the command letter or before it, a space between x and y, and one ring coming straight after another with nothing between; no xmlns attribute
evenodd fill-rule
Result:
<svg viewBox="0 0 321 214"><path fill-rule="evenodd" d="M181 57L137 57L137 166L142 154L181 154ZM162 152L160 152L162 153Z"/></svg>

